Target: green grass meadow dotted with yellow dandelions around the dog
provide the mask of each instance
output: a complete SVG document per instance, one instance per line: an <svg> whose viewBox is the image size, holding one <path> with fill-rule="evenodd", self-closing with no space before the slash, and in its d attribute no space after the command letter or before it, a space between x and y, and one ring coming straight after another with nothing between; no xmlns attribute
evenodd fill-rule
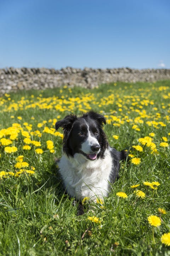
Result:
<svg viewBox="0 0 170 256"><path fill-rule="evenodd" d="M108 198L77 216L55 123L91 109L130 152ZM0 120L0 255L170 255L170 81L5 94Z"/></svg>

